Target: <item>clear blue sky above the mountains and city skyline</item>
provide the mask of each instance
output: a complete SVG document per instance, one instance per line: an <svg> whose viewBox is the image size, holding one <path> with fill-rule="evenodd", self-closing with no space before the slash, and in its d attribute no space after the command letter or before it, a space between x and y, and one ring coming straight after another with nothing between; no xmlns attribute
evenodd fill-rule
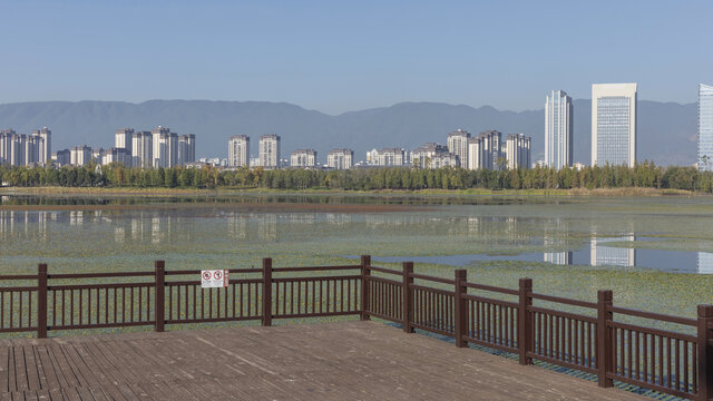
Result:
<svg viewBox="0 0 713 401"><path fill-rule="evenodd" d="M713 82L713 1L3 0L0 102L399 101L537 109L550 89Z"/></svg>

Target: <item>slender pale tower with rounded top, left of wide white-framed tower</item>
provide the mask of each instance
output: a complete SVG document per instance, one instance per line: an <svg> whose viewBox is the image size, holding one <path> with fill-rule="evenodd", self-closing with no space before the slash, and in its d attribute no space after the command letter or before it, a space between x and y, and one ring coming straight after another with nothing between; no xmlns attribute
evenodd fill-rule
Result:
<svg viewBox="0 0 713 401"><path fill-rule="evenodd" d="M545 165L560 169L572 167L573 147L572 98L564 90L553 90L545 100Z"/></svg>

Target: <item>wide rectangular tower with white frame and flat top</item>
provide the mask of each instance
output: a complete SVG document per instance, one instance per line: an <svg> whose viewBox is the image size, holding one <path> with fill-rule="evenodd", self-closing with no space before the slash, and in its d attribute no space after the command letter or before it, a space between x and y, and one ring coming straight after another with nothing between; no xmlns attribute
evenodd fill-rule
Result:
<svg viewBox="0 0 713 401"><path fill-rule="evenodd" d="M592 86L592 165L636 163L636 84Z"/></svg>

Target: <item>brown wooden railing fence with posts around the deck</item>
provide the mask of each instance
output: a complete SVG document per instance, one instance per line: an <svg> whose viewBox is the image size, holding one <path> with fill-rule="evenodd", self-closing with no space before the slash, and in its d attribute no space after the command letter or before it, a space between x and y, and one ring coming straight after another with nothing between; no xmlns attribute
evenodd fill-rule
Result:
<svg viewBox="0 0 713 401"><path fill-rule="evenodd" d="M600 387L619 381L713 400L713 305L687 319L614 306L611 291L585 302L535 293L529 278L514 290L455 273L418 274L411 262L401 271L377 267L369 256L314 267L273 267L265 258L262 268L229 270L227 287L202 288L201 271L166 271L162 261L153 272L119 273L48 274L40 264L37 274L0 275L0 333L359 315L451 336L460 348L511 352L520 364L593 373Z"/></svg>

